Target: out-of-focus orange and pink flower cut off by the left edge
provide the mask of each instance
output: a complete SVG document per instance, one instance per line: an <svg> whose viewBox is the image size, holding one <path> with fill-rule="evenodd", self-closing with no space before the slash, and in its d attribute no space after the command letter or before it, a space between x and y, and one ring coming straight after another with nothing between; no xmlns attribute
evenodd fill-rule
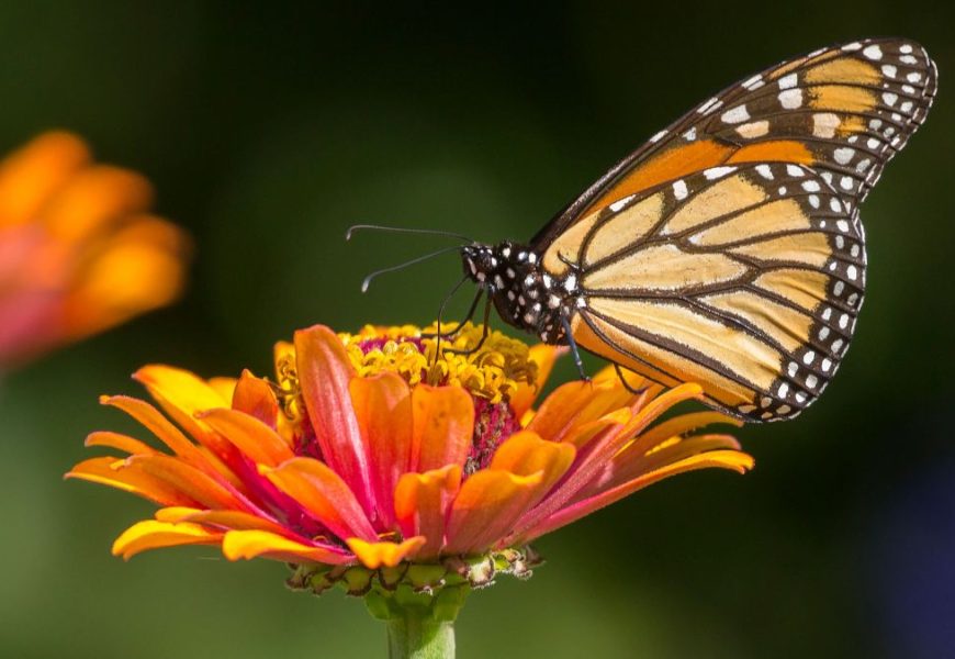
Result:
<svg viewBox="0 0 955 659"><path fill-rule="evenodd" d="M0 370L178 297L188 241L151 200L69 133L0 161Z"/></svg>

